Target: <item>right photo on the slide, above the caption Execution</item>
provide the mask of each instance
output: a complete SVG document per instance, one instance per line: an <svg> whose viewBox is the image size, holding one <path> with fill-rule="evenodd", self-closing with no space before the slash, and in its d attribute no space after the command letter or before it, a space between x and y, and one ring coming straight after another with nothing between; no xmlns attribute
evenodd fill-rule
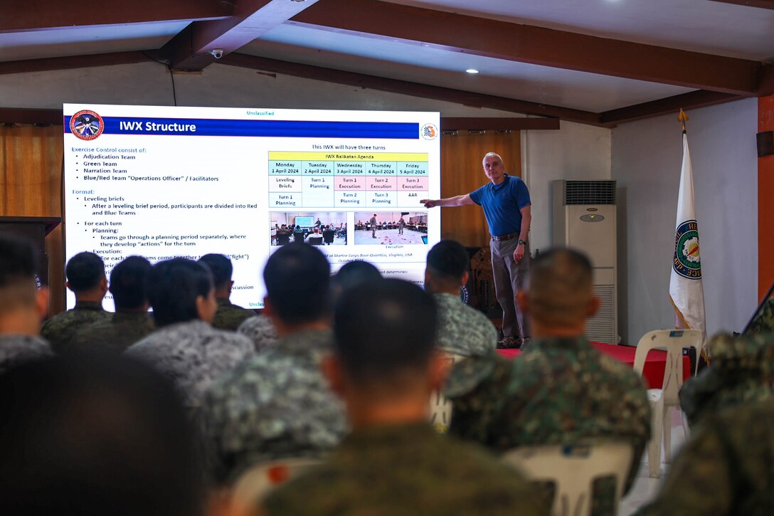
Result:
<svg viewBox="0 0 774 516"><path fill-rule="evenodd" d="M355 212L354 243L358 246L426 244L427 212Z"/></svg>

